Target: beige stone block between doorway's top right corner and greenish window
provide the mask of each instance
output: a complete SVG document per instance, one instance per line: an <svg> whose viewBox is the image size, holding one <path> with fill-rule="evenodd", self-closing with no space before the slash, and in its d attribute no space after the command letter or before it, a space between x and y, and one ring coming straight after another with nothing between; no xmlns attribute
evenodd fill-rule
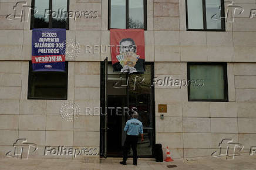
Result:
<svg viewBox="0 0 256 170"><path fill-rule="evenodd" d="M156 75L186 75L187 63L185 62L156 62L154 74Z"/></svg>

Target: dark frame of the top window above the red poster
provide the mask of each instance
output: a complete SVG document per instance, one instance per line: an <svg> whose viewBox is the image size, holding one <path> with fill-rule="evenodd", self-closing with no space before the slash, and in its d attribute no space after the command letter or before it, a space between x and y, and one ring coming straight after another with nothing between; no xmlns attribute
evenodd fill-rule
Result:
<svg viewBox="0 0 256 170"><path fill-rule="evenodd" d="M126 0L126 28L125 29L134 29L128 28L128 20L129 20L129 0ZM147 0L143 0L143 13L144 13L144 30L147 30ZM110 29L117 29L117 28L110 28L111 23L111 0L109 0L109 21L108 21L108 30Z"/></svg>

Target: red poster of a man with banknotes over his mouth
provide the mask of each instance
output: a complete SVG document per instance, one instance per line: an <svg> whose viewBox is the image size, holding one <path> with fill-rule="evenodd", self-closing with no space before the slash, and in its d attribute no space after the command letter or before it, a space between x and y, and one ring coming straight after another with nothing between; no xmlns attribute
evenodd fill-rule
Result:
<svg viewBox="0 0 256 170"><path fill-rule="evenodd" d="M114 72L144 72L143 29L110 29L110 45Z"/></svg>

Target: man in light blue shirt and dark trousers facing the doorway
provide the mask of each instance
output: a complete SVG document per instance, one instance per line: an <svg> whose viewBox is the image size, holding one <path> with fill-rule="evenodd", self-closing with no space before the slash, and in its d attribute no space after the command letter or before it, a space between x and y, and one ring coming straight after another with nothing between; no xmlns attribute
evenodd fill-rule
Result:
<svg viewBox="0 0 256 170"><path fill-rule="evenodd" d="M137 165L137 141L139 134L142 137L142 141L144 141L142 122L138 120L138 117L139 114L134 111L132 114L132 119L128 120L124 127L124 131L126 131L127 135L123 147L123 161L120 162L120 164L126 165L127 155L130 150L130 145L132 145L133 165Z"/></svg>

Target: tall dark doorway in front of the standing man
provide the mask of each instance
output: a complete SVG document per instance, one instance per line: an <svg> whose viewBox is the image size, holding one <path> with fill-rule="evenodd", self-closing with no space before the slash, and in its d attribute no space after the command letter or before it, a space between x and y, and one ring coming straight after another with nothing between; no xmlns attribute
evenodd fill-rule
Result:
<svg viewBox="0 0 256 170"><path fill-rule="evenodd" d="M122 147L126 138L123 128L130 119L127 108L139 113L143 123L144 141L137 144L139 157L153 157L155 144L154 128L154 65L145 63L145 72L113 72L112 64L101 63L101 107L100 154L104 157L122 157ZM103 73L105 72L105 73ZM130 152L132 155L132 151Z"/></svg>

